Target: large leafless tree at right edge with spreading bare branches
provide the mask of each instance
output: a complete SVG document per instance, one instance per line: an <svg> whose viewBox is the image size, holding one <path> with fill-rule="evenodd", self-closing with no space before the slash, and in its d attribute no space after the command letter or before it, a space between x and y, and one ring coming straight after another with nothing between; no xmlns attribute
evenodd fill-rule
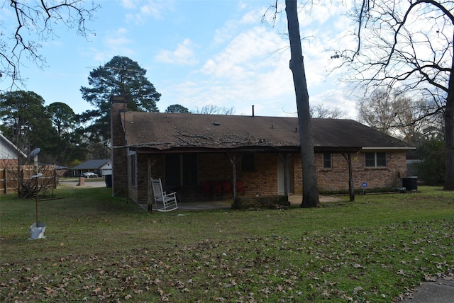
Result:
<svg viewBox="0 0 454 303"><path fill-rule="evenodd" d="M454 190L454 2L356 0L357 47L336 54L367 93L377 87L430 100L444 115L445 190Z"/></svg>

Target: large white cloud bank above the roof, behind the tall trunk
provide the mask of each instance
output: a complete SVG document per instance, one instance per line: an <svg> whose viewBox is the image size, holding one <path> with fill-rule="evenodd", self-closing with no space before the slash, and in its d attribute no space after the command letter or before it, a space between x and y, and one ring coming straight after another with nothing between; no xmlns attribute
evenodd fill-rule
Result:
<svg viewBox="0 0 454 303"><path fill-rule="evenodd" d="M251 106L255 105L255 115L296 116L289 41L287 35L281 34L286 20L277 23L280 33L277 28L260 24L265 9L248 11L218 28L213 41L223 48L206 57L199 69L186 74L177 84L162 86L160 109L176 103L189 110L218 105L233 107L236 115L250 115ZM284 19L284 15L282 12L277 18ZM327 50L333 48L333 37L340 35L329 19L332 15L326 9L314 8L311 18L318 18L317 25L301 31L301 35L314 36L303 42L310 103L340 108L348 113L348 118L355 118L355 102L345 95L346 87L335 83L326 72L332 55ZM184 50L184 46L183 42L175 51L162 51L155 59L175 63L178 50Z"/></svg>

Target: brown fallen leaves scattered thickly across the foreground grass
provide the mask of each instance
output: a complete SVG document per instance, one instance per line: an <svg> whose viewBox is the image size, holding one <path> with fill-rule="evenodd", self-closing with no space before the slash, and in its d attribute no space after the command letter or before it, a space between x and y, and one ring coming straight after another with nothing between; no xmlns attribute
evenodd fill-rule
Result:
<svg viewBox="0 0 454 303"><path fill-rule="evenodd" d="M389 302L454 267L452 222L301 235L4 263L0 300Z"/></svg>

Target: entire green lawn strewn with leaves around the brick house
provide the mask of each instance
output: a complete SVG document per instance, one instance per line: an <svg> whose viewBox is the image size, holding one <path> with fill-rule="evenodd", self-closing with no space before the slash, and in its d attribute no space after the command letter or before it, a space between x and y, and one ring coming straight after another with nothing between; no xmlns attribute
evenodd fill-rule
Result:
<svg viewBox="0 0 454 303"><path fill-rule="evenodd" d="M148 214L111 188L0 196L0 301L392 302L454 268L454 193Z"/></svg>

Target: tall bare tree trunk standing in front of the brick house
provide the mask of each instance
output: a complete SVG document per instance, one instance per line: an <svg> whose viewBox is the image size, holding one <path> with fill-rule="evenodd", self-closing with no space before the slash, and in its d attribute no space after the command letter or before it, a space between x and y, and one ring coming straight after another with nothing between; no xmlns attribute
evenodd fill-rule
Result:
<svg viewBox="0 0 454 303"><path fill-rule="evenodd" d="M309 114L309 93L301 51L297 0L285 1L285 12L290 39L290 69L293 73L297 96L299 142L301 145L301 166L303 170L303 201L301 207L319 207L319 189L315 168L314 145L312 144L311 115Z"/></svg>

